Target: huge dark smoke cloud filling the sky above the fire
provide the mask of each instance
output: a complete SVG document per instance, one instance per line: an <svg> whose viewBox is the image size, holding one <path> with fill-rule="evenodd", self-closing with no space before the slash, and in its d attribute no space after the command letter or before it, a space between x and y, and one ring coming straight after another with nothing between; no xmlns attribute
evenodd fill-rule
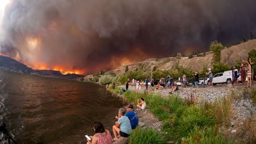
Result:
<svg viewBox="0 0 256 144"><path fill-rule="evenodd" d="M134 62L203 51L213 40L240 41L256 32L255 5L255 0L13 0L5 10L1 43L5 53L30 65L90 73L118 66L113 60L122 57ZM34 38L39 45L31 48L27 40Z"/></svg>

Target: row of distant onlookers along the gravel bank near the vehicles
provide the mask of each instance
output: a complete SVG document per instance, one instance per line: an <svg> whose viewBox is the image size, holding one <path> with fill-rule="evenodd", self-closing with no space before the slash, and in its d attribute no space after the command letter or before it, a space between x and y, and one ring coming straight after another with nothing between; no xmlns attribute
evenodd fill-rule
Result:
<svg viewBox="0 0 256 144"><path fill-rule="evenodd" d="M232 84L234 87L238 85L238 78L239 78L239 73L241 73L241 79L239 81L242 82L242 85L245 85L245 81L247 81L247 86L245 87L251 87L254 75L255 73L253 72L253 65L254 63L252 62L252 59L249 58L248 61L242 60L241 62L241 67L238 69L235 66L232 68ZM239 70L239 71L238 71ZM204 74L201 74L204 75ZM207 85L209 87L213 87L213 72L211 68L207 69L207 72L205 75L209 78L207 80ZM204 75L204 76L205 76ZM189 76L191 78L191 76ZM195 88L199 88L199 72L195 71L193 74L193 85ZM129 82L126 83L126 90L128 89L129 85L136 86L133 87L135 91L140 91L142 89L142 84L145 85L145 89L148 90L148 88L151 86L157 90L163 89L163 88L171 88L171 91L169 93L173 93L178 89L178 87L186 87L186 85L189 84L187 75L183 74L180 78L177 78L178 81L174 81L174 78L172 78L170 75L167 75L167 77L162 77L159 79L159 81L156 84L156 87L154 87L154 79L152 78L151 81L149 81L148 78L145 79L145 81L137 81L135 78L132 79L132 84ZM191 81L191 79L190 79ZM177 83L177 84L176 84ZM191 82L190 82L191 83ZM202 84L202 82L200 82ZM203 82L205 84L205 82Z"/></svg>

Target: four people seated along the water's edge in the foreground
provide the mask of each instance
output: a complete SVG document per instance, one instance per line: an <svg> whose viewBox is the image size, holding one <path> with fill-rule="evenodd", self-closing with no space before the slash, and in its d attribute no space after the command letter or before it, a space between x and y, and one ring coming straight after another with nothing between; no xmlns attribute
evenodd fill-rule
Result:
<svg viewBox="0 0 256 144"><path fill-rule="evenodd" d="M146 108L146 101L144 98L137 100L136 107L140 110ZM93 124L94 136L87 138L87 143L91 144L109 144L115 142L119 137L129 137L133 129L136 129L139 124L139 116L133 109L134 105L129 104L127 108L120 108L115 119L112 130L114 137L112 138L110 130L104 129L103 124L95 122Z"/></svg>

